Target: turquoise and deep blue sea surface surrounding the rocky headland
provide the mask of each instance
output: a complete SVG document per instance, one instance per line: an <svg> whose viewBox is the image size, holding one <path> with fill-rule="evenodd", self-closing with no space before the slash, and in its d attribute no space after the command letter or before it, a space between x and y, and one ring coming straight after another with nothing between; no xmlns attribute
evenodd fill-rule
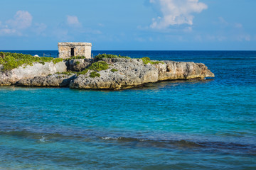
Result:
<svg viewBox="0 0 256 170"><path fill-rule="evenodd" d="M256 169L255 51L92 53L203 62L215 78L122 91L0 87L0 169Z"/></svg>

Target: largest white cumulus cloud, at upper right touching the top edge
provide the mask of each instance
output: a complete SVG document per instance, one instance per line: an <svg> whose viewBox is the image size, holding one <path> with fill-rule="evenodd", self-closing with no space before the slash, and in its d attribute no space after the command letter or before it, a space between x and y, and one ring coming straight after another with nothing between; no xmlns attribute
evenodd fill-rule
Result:
<svg viewBox="0 0 256 170"><path fill-rule="evenodd" d="M159 6L162 16L153 18L151 28L164 29L169 26L193 25L193 13L201 13L208 6L198 0L149 0Z"/></svg>

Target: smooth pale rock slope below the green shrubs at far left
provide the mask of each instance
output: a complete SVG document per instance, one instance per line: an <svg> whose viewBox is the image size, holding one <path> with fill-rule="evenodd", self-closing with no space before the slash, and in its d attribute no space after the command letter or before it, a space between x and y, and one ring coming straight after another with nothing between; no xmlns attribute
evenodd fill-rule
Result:
<svg viewBox="0 0 256 170"><path fill-rule="evenodd" d="M46 62L45 64L33 63L33 66L18 67L7 72L0 72L0 86L10 86L21 79L31 79L33 77L46 77L48 74L56 72L67 72L65 62Z"/></svg>

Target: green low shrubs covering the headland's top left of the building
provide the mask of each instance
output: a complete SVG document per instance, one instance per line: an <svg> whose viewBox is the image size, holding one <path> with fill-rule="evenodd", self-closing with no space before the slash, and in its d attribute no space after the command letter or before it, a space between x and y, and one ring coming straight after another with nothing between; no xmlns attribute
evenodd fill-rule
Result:
<svg viewBox="0 0 256 170"><path fill-rule="evenodd" d="M63 61L61 58L53 57L33 57L32 55L23 55L11 52L0 52L0 64L3 65L2 71L8 71L24 65L33 65L33 62L45 64L46 62L53 62L54 64Z"/></svg>

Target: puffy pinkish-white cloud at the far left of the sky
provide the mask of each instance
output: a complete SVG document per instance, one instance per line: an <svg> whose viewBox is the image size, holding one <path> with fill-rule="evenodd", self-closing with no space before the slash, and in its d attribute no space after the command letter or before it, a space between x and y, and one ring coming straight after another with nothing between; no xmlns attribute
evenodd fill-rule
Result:
<svg viewBox="0 0 256 170"><path fill-rule="evenodd" d="M32 19L28 11L17 11L14 18L0 24L0 35L22 35L21 30L29 28Z"/></svg>

